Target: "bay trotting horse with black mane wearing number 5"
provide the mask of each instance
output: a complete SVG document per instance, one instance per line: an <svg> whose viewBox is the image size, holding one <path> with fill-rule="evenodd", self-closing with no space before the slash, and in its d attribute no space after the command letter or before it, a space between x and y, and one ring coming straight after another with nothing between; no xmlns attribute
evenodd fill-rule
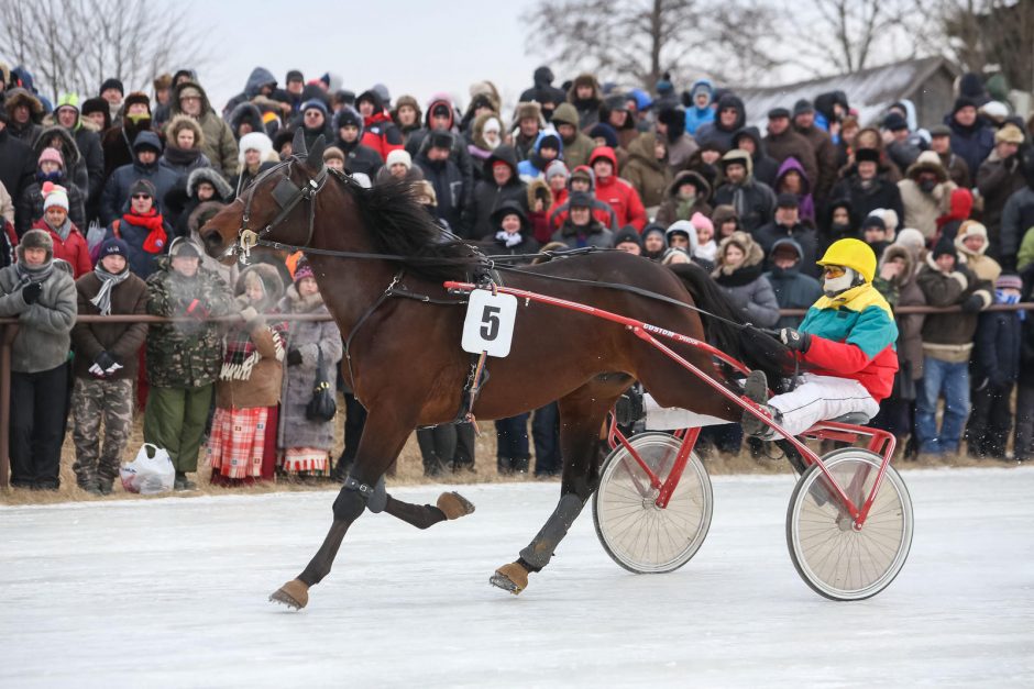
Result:
<svg viewBox="0 0 1034 689"><path fill-rule="evenodd" d="M460 347L465 309L457 304L465 298L449 295L442 281L463 280L485 263L464 242L440 242L440 229L407 184L363 189L323 166L322 137L311 151L298 138L290 158L255 179L200 233L206 251L223 259L243 251L242 237L244 244L257 236L262 243L307 249L320 293L348 343L342 373L369 412L351 474L333 503L329 533L301 574L271 596L295 609L307 604L309 588L330 573L349 526L364 510L386 511L421 529L473 510L457 493L443 493L437 505L402 502L385 493L383 475L414 429L458 418L472 355ZM770 376L784 371L790 360L771 337L727 321L708 323L705 333L697 312L673 303L695 302L739 320L696 266L678 266L676 273L604 251L503 275L508 287L588 303L698 340L711 335L719 348ZM598 281L661 297L593 284ZM695 366L714 368L707 354L672 346ZM741 415L740 408L624 326L550 305L519 305L509 355L491 358L487 368L488 381L472 409L477 419L513 416L553 400L560 405L563 469L557 508L519 557L491 578L513 593L550 562L595 490L606 451L601 429L636 379L663 407L728 421Z"/></svg>

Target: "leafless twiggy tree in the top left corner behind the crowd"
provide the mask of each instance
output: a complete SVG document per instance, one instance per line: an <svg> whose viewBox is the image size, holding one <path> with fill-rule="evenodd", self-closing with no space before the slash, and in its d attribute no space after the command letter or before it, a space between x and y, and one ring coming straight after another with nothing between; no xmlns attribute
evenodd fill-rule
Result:
<svg viewBox="0 0 1034 689"><path fill-rule="evenodd" d="M0 47L55 99L96 93L109 77L142 89L174 64L208 59L206 32L184 14L183 3L145 0L0 0Z"/></svg>

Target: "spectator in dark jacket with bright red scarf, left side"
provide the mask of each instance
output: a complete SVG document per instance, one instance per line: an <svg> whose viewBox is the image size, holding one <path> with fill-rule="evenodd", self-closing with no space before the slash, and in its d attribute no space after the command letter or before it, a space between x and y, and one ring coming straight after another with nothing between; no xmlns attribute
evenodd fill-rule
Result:
<svg viewBox="0 0 1034 689"><path fill-rule="evenodd" d="M173 230L158 208L153 184L138 179L129 197L129 208L111 221L105 236L125 242L130 270L146 280L155 270L155 260L168 252Z"/></svg>

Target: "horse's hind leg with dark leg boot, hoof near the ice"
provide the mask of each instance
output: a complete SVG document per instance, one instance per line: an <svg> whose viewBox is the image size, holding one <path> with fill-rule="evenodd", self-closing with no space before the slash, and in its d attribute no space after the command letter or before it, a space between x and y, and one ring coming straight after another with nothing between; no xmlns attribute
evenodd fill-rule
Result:
<svg viewBox="0 0 1034 689"><path fill-rule="evenodd" d="M520 551L520 557L496 569L488 579L493 586L516 596L528 586L530 573L540 571L549 564L557 546L596 490L600 462L606 453L606 441L601 437L603 424L607 411L631 382L631 378L625 375L601 376L560 400L563 454L560 501L531 543Z"/></svg>

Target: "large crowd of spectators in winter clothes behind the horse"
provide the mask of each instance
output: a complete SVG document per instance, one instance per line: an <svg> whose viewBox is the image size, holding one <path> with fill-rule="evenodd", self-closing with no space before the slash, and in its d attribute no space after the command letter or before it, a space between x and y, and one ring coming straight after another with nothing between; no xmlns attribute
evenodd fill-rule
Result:
<svg viewBox="0 0 1034 689"><path fill-rule="evenodd" d="M892 307L960 307L897 314L900 370L872 423L910 454L1031 457L1034 326L988 307L1027 300L1034 282L1034 118L992 99L979 75L958 80L928 129L909 101L862 122L842 91L748 113L707 79L679 93L663 78L650 93L592 74L557 85L541 67L513 108L491 81L471 85L465 104L330 81L257 67L217 110L182 69L148 92L109 78L51 102L28 69L0 64L0 315L19 321L12 486L58 487L70 415L77 481L109 493L138 408L178 489L196 486L202 451L216 484L343 478L365 411L344 390L332 466L332 421L309 410L314 387L333 381L341 335L283 318L327 313L312 270L298 256L228 268L198 236L290 155L298 131L309 146L322 135L324 163L364 186L408 180L430 220L486 253L593 246L695 263L760 326L799 323L780 309L822 296L817 257L862 240ZM750 124L762 118L763 133ZM556 403L528 429L529 414L496 423L498 470L557 474ZM736 427L708 435L739 449ZM418 440L427 474L473 467L469 424Z"/></svg>

